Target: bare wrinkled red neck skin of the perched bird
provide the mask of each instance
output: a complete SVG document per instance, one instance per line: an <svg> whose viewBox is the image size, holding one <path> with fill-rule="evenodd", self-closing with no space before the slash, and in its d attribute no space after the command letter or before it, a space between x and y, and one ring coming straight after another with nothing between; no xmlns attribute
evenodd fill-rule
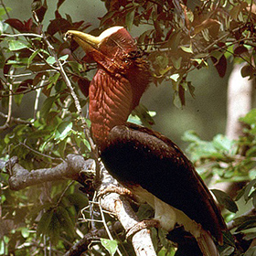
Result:
<svg viewBox="0 0 256 256"><path fill-rule="evenodd" d="M98 69L89 93L91 132L95 143L101 146L114 126L126 123L133 110L133 91L123 76Z"/></svg>

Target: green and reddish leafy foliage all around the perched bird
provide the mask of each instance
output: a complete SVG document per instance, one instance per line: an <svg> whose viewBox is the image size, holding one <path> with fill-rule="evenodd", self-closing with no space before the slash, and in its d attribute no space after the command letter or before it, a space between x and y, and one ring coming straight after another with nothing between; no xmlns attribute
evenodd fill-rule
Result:
<svg viewBox="0 0 256 256"><path fill-rule="evenodd" d="M256 5L251 5L252 1L198 1L197 5L184 1L184 5L179 5L178 1L105 0L106 14L101 17L100 27L93 30L89 22L73 21L69 14L61 15L59 7L64 2L57 1L55 18L47 27L42 25L48 11L46 0L34 0L33 15L24 22L10 17L6 13L10 9L5 5L0 8L3 75L0 99L5 112L0 112L5 119L0 127L2 161L16 155L20 165L32 170L58 165L70 153L91 157L91 144L85 133L90 120L81 118L64 74L87 116L88 88L95 64L87 57L76 58L78 45L63 39L69 29L99 34L112 25L130 30L133 26L144 27L137 41L151 62L153 81L157 85L167 80L172 85L177 106L186 103L186 91L194 95L194 85L187 80L188 72L206 69L209 61L214 63L220 77L225 76L228 61L246 63L241 70L243 77L251 79L255 74ZM4 20L6 15L8 18ZM39 99L43 101L41 105ZM15 107L18 109L32 101L23 116L15 117ZM153 114L140 106L130 120L150 126L154 123ZM188 151L192 160L206 180L219 176L219 181L249 181L235 200L219 191L213 192L228 209L224 211L226 219L234 219L237 224L236 229L232 229L239 245L236 255L243 252L253 255L255 247L248 249L248 244L255 238L251 228L255 227L256 219L241 216L241 209L256 204L256 111L252 110L241 121L248 128L246 136L239 141L230 141L219 134L212 142L206 142L191 132L185 134L185 139L190 143ZM1 254L43 255L49 247L49 253L62 255L80 239L80 233L91 231L91 225L80 223L78 218L81 208L88 207L92 195L81 194L76 184L49 182L14 192L8 188L4 169L1 188ZM150 217L152 212L147 210L141 206L138 213L144 218ZM84 221L90 219L88 213L84 216ZM108 221L113 219L108 217ZM101 227L102 224L97 226ZM234 251L234 240L229 234L225 239L221 255ZM159 255L174 255L164 235L155 234L154 241ZM92 245L90 253L102 255L109 251L113 255L119 243L133 255L122 239L119 242L101 240L100 249Z"/></svg>

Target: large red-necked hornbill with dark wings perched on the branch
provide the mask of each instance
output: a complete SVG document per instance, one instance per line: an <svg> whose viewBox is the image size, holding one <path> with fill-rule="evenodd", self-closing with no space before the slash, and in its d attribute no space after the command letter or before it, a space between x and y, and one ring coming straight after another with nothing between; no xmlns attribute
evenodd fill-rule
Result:
<svg viewBox="0 0 256 256"><path fill-rule="evenodd" d="M89 115L108 172L155 209L162 229L182 227L197 240L202 255L218 256L216 244L223 243L226 224L195 167L163 134L127 122L151 82L148 60L135 39L119 26L98 37L77 30L69 30L66 37L97 63Z"/></svg>

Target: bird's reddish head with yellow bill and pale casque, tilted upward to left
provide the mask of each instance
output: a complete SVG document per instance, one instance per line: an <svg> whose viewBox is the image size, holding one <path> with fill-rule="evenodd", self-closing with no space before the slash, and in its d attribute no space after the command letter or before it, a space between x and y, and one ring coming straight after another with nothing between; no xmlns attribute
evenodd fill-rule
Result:
<svg viewBox="0 0 256 256"><path fill-rule="evenodd" d="M124 27L110 27L99 37L69 30L66 37L73 38L101 68L110 74L123 75L135 87L143 84L145 90L150 81L149 66Z"/></svg>

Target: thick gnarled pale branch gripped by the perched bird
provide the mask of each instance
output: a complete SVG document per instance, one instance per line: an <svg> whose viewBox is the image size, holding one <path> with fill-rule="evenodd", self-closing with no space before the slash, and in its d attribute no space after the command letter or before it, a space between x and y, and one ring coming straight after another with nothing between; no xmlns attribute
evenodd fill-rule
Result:
<svg viewBox="0 0 256 256"><path fill-rule="evenodd" d="M73 179L85 184L87 179L93 180L95 176L95 164L92 159L84 160L80 155L68 155L67 159L53 167L42 168L28 171L17 163L17 157L12 157L6 163L6 169L10 174L9 187L13 190L20 190L25 187L41 184L47 181L60 179ZM112 178L101 164L101 187L103 190L106 187L119 186L117 181ZM100 198L101 208L108 210L122 223L123 229L127 232L135 224L139 222L138 217L134 213L128 201L119 194L110 193ZM65 255L80 255L80 250L88 249L88 240L91 238L91 233L85 237L67 252ZM82 241L86 243L82 245ZM155 256L155 249L150 237L148 229L142 229L135 233L132 238L133 248L138 256L151 255ZM77 254L74 254L77 250Z"/></svg>

